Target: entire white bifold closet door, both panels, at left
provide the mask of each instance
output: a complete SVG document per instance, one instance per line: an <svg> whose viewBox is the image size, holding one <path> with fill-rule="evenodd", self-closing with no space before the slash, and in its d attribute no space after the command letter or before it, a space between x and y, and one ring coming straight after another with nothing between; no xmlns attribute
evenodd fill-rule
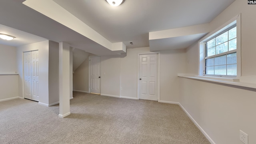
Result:
<svg viewBox="0 0 256 144"><path fill-rule="evenodd" d="M39 101L38 50L24 52L24 98Z"/></svg>

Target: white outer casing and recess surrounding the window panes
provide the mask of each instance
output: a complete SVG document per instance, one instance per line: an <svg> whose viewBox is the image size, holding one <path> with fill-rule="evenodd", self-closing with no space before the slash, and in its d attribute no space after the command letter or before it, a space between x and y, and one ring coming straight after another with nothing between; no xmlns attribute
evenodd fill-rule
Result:
<svg viewBox="0 0 256 144"><path fill-rule="evenodd" d="M198 69L198 75L199 76L205 76L205 42L210 40L212 37L222 33L223 31L227 30L231 26L236 24L236 61L237 61L237 74L236 76L231 76L232 78L239 78L242 75L242 62L241 62L241 13L236 15L234 18L217 28L216 30L210 32L203 38L199 40L199 69ZM218 75L212 75L219 77ZM229 77L229 76L223 76L223 77Z"/></svg>

